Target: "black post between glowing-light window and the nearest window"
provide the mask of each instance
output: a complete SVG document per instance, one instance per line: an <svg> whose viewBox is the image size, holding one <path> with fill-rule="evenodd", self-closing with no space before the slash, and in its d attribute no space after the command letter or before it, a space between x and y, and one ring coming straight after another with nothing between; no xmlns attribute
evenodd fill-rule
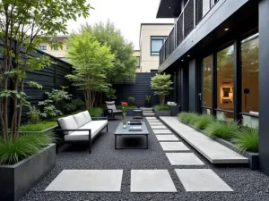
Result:
<svg viewBox="0 0 269 201"><path fill-rule="evenodd" d="M238 38L234 41L233 54L233 106L234 121L241 121L242 109L242 68L241 68L241 40Z"/></svg>

